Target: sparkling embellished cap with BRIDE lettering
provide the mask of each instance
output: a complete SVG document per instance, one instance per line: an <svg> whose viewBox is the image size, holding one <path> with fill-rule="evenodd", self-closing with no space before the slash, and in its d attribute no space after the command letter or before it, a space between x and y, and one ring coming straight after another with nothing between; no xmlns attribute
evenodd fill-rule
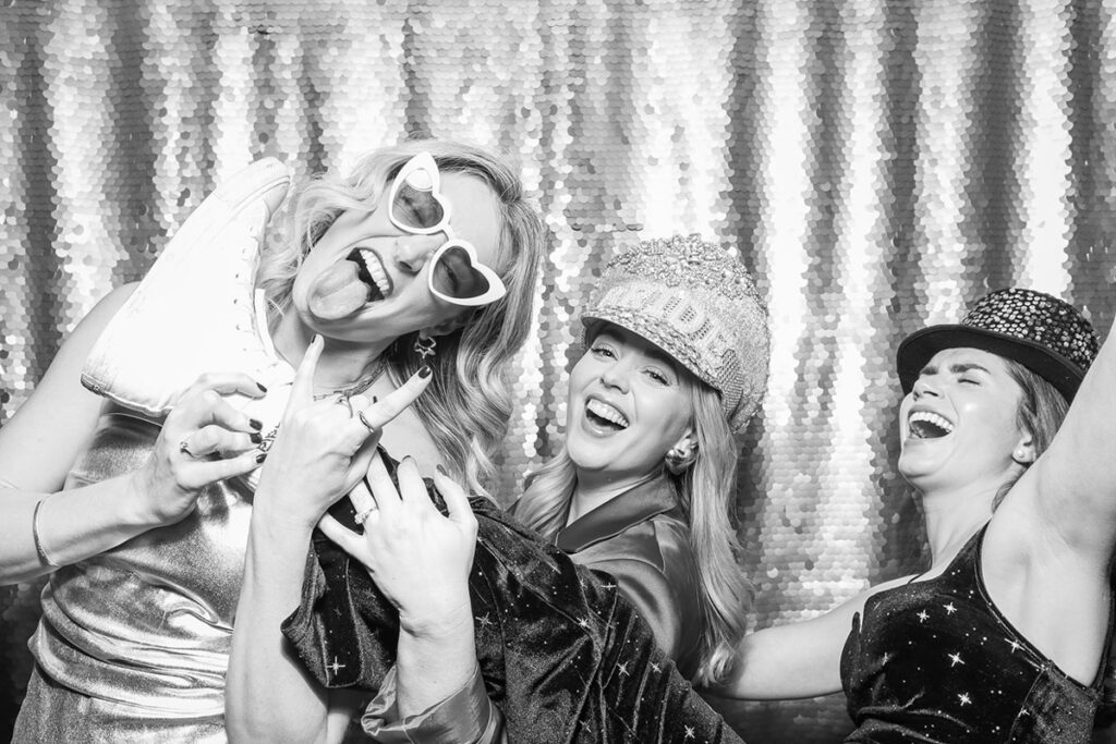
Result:
<svg viewBox="0 0 1116 744"><path fill-rule="evenodd" d="M721 395L742 432L767 389L767 307L740 260L699 235L648 240L614 259L581 315L626 328Z"/></svg>

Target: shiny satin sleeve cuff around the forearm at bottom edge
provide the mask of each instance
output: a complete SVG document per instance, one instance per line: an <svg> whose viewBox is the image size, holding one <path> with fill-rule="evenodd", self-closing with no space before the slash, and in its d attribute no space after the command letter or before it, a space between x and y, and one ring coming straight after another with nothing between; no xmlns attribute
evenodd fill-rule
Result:
<svg viewBox="0 0 1116 744"><path fill-rule="evenodd" d="M360 726L382 744L507 744L503 714L489 699L480 667L445 699L422 713L401 718L396 705L395 667L365 708Z"/></svg>

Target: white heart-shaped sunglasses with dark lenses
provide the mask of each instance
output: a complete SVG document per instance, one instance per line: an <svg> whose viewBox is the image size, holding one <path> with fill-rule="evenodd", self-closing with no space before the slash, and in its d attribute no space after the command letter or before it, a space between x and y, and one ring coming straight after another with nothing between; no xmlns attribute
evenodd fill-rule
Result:
<svg viewBox="0 0 1116 744"><path fill-rule="evenodd" d="M415 235L445 233L448 240L427 262L426 278L435 297L465 307L496 302L508 289L494 271L477 260L472 243L454 236L450 203L442 196L441 184L434 157L419 153L392 182L387 216L396 228Z"/></svg>

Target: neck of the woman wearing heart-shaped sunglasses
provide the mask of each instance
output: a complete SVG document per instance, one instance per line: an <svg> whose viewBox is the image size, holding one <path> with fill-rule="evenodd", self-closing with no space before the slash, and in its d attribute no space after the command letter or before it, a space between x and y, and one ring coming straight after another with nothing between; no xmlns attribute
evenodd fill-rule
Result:
<svg viewBox="0 0 1116 744"><path fill-rule="evenodd" d="M307 347L314 340L314 331L302 323L297 312L290 310L279 318L271 339L279 356L297 369ZM316 393L360 381L375 371L381 355L392 344L392 340L353 344L325 337L323 340L325 346L314 374Z"/></svg>

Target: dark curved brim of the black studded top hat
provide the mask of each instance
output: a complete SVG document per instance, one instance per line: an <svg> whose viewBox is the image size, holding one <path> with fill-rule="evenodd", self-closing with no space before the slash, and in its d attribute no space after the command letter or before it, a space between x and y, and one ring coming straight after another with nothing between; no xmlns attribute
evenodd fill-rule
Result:
<svg viewBox="0 0 1116 744"><path fill-rule="evenodd" d="M895 357L903 394L911 392L918 373L935 354L956 348L981 349L1018 361L1054 385L1067 403L1085 378L1080 367L1041 344L972 326L943 325L916 330L899 344Z"/></svg>

